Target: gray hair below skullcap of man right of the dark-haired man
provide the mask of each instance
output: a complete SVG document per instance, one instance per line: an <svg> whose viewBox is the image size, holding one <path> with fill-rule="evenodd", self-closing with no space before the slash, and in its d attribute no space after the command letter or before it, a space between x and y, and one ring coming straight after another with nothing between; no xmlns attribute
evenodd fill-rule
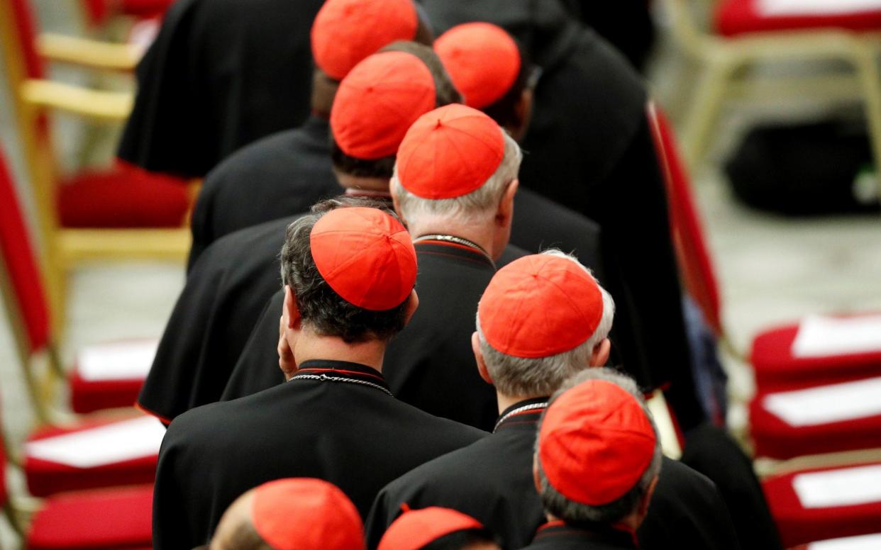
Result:
<svg viewBox="0 0 881 550"><path fill-rule="evenodd" d="M572 254L554 248L545 250L543 254L574 261L596 281L590 269L584 267ZM612 320L615 317L615 301L598 282L597 286L603 296L603 315L594 334L591 334L584 343L555 356L527 359L501 353L486 341L478 316L480 351L484 356L486 370L492 378L492 385L495 385L500 393L510 396L551 395L566 378L588 367L594 348L609 336Z"/></svg>

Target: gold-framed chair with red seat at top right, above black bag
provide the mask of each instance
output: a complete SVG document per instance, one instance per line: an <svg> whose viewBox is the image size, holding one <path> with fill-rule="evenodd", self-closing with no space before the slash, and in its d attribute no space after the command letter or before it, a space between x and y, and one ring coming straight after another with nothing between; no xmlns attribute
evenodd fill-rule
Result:
<svg viewBox="0 0 881 550"><path fill-rule="evenodd" d="M784 94L824 99L861 99L872 151L881 165L881 9L848 7L830 0L719 0L712 3L711 27L695 24L696 4L707 0L666 0L677 42L701 67L701 77L685 121L685 159L694 168L712 143L712 130L726 99ZM706 7L706 6L705 6ZM766 62L839 61L851 69L841 77L768 78L753 65Z"/></svg>

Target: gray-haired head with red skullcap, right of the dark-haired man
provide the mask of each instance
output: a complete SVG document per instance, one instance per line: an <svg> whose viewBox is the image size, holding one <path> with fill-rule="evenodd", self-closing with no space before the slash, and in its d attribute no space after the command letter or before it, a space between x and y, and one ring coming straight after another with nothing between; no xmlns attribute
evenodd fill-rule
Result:
<svg viewBox="0 0 881 550"><path fill-rule="evenodd" d="M550 395L589 366L611 330L615 303L574 256L524 256L492 277L478 304L480 352L496 389Z"/></svg>

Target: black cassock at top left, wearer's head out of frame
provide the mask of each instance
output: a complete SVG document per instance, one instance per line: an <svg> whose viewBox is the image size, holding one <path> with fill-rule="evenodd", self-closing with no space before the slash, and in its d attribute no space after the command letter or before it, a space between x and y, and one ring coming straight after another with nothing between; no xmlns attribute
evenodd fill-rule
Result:
<svg viewBox="0 0 881 550"><path fill-rule="evenodd" d="M309 31L323 0L179 0L137 65L117 154L202 177L242 145L306 120Z"/></svg>

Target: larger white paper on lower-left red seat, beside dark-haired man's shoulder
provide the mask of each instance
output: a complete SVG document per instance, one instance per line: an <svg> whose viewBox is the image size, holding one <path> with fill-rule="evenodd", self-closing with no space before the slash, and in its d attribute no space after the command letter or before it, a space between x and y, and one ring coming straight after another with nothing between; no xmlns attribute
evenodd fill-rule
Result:
<svg viewBox="0 0 881 550"><path fill-rule="evenodd" d="M75 468L149 457L159 452L165 428L152 416L25 444L27 455Z"/></svg>

